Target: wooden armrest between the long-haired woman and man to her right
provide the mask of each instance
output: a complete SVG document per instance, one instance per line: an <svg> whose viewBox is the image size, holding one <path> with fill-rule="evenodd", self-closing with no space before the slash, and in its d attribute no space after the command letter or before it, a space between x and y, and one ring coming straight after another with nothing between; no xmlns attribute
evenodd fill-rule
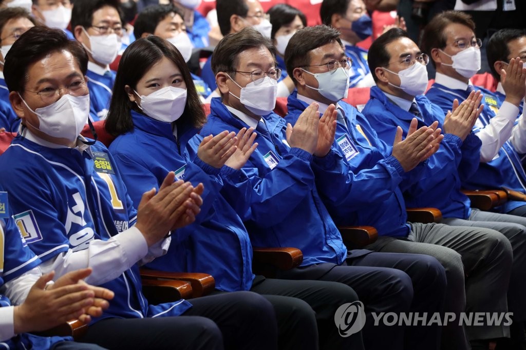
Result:
<svg viewBox="0 0 526 350"><path fill-rule="evenodd" d="M254 247L252 272L271 278L278 270L290 270L303 262L303 253L297 248Z"/></svg>

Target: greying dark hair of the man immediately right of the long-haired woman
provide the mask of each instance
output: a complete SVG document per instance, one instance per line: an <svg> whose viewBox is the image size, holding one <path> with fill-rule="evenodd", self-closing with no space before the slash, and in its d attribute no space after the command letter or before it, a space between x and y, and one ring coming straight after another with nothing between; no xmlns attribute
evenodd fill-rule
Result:
<svg viewBox="0 0 526 350"><path fill-rule="evenodd" d="M235 73L238 55L245 50L261 46L265 46L272 54L272 57L276 59L276 47L272 44L272 40L262 36L261 33L252 27L246 27L238 33L226 35L217 44L212 55L210 63L212 71L214 71L214 74L220 71Z"/></svg>

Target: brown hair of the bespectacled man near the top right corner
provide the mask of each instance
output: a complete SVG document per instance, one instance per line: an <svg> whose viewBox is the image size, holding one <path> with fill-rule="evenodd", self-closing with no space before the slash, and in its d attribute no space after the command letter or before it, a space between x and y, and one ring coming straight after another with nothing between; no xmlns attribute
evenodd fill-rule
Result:
<svg viewBox="0 0 526 350"><path fill-rule="evenodd" d="M431 56L434 48L443 49L446 47L446 35L444 29L452 23L462 24L475 32L475 23L471 16L460 11L444 11L434 16L424 27L422 34L422 45L420 46L426 54ZM436 67L434 60L431 59L433 67Z"/></svg>

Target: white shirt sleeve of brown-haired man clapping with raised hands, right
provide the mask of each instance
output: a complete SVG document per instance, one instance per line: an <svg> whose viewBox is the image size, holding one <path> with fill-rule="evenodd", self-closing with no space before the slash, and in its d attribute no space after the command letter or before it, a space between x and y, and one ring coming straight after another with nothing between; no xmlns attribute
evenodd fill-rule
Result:
<svg viewBox="0 0 526 350"><path fill-rule="evenodd" d="M504 101L497 115L490 119L490 123L476 133L482 141L480 161L489 162L499 152L504 142L511 136L513 124L519 114L519 108Z"/></svg>

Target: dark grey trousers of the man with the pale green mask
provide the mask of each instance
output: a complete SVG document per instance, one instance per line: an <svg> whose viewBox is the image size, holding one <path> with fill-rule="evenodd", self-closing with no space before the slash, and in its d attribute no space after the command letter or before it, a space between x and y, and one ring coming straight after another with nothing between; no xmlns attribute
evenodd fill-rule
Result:
<svg viewBox="0 0 526 350"><path fill-rule="evenodd" d="M440 261L447 278L444 311L457 315L456 322L443 327L441 347L467 349L468 337L509 336L508 326L471 326L464 329L458 325L458 320L459 313L463 311L508 311L506 292L512 264L510 242L499 232L489 229L434 223L410 225L408 240L381 236L367 248L382 252L428 254ZM468 277L465 287L464 274Z"/></svg>

